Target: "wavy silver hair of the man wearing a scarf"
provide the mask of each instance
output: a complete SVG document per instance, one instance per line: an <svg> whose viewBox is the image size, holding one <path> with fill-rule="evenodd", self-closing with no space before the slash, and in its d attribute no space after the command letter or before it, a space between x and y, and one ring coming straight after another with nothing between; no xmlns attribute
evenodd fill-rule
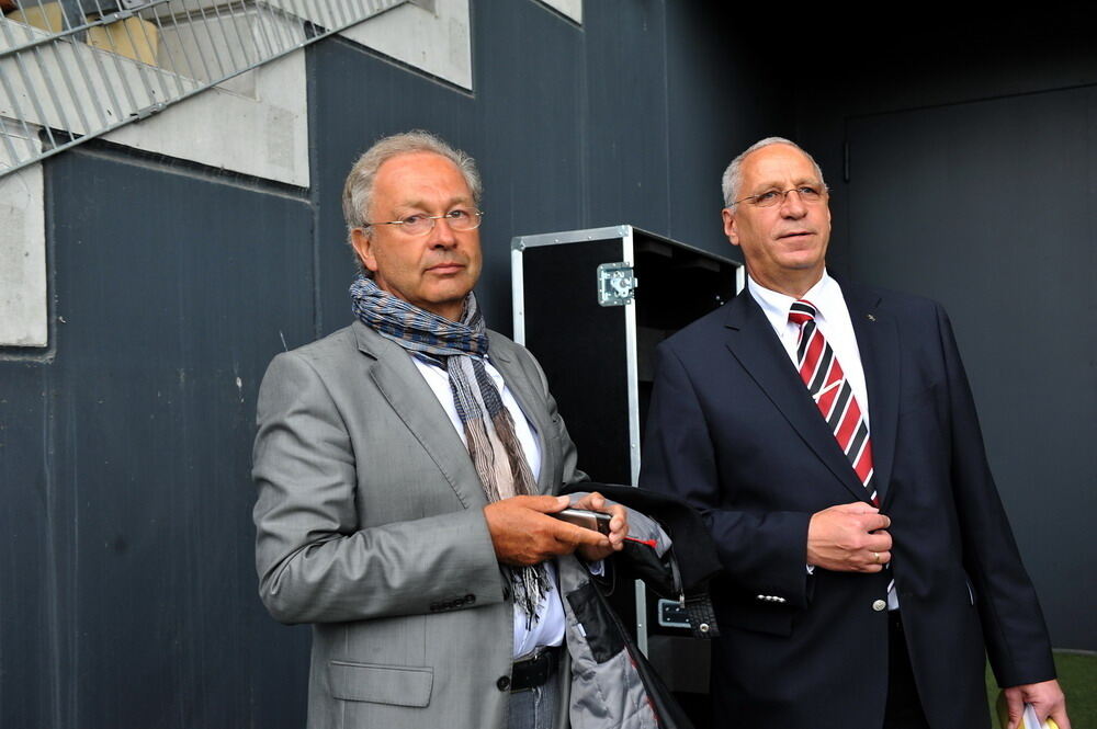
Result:
<svg viewBox="0 0 1097 729"><path fill-rule="evenodd" d="M343 219L347 221L348 241L352 240L351 233L355 228L364 228L369 235L366 216L370 214L370 206L373 203L373 182L381 166L394 157L416 152L431 152L453 162L461 170L465 184L473 193L473 203L479 205L482 187L479 172L476 170L476 160L460 149L454 149L430 132L414 129L394 134L378 139L366 149L354 162L350 174L347 175L347 182L343 184L342 206Z"/></svg>

